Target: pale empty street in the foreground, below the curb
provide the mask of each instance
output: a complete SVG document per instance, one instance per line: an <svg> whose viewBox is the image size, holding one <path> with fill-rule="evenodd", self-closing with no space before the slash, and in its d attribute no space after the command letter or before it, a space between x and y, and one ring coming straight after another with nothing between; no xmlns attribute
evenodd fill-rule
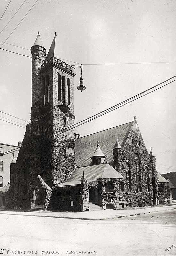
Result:
<svg viewBox="0 0 176 256"><path fill-rule="evenodd" d="M176 255L176 210L97 221L6 214L0 219L3 255Z"/></svg>

